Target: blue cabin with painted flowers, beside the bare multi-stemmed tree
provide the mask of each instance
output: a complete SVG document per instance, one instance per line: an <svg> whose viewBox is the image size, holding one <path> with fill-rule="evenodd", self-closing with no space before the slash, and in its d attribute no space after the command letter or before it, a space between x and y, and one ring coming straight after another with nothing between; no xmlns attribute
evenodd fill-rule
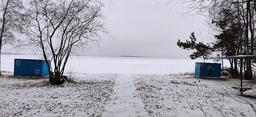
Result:
<svg viewBox="0 0 256 117"><path fill-rule="evenodd" d="M48 61L51 65L51 61ZM14 59L14 76L48 76L45 60Z"/></svg>

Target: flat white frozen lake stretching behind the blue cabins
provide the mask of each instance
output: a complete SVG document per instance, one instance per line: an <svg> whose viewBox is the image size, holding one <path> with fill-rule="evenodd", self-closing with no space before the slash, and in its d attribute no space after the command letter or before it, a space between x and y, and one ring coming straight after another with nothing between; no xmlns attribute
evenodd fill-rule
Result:
<svg viewBox="0 0 256 117"><path fill-rule="evenodd" d="M14 59L43 59L38 55L2 55L1 70L13 72ZM179 73L194 73L195 62L203 59L190 58L139 58L139 57L70 57L65 73L81 74L149 74L169 75ZM213 62L213 60L205 60ZM219 62L221 63L221 62ZM224 60L224 67L229 67L229 61Z"/></svg>

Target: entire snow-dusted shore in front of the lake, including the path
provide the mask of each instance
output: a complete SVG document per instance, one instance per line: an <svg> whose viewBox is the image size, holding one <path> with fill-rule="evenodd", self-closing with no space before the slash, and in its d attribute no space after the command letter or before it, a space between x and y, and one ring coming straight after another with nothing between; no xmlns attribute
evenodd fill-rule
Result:
<svg viewBox="0 0 256 117"><path fill-rule="evenodd" d="M231 78L70 76L73 83L60 86L47 78L0 77L0 116L256 116L255 79L244 81L253 89L241 96L231 88L239 79Z"/></svg>

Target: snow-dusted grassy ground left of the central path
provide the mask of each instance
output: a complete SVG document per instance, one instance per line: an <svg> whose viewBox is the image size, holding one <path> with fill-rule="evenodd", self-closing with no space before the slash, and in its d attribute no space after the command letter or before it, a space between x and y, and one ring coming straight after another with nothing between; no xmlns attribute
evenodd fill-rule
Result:
<svg viewBox="0 0 256 117"><path fill-rule="evenodd" d="M117 75L74 75L54 86L47 78L0 77L0 116L101 116Z"/></svg>

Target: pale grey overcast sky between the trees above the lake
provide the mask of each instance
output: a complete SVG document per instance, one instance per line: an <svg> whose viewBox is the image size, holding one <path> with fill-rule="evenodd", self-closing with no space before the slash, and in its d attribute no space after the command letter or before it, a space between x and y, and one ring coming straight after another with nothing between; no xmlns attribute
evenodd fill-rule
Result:
<svg viewBox="0 0 256 117"><path fill-rule="evenodd" d="M105 3L107 29L115 36L103 36L98 46L79 53L86 56L144 56L144 57L189 57L192 51L177 46L177 41L189 39L195 31L197 40L204 42L204 17L173 14L186 11L176 6L159 4L168 0L111 0ZM202 33L201 33L202 32ZM5 49L3 52L10 51ZM21 52L26 53L26 52Z"/></svg>

